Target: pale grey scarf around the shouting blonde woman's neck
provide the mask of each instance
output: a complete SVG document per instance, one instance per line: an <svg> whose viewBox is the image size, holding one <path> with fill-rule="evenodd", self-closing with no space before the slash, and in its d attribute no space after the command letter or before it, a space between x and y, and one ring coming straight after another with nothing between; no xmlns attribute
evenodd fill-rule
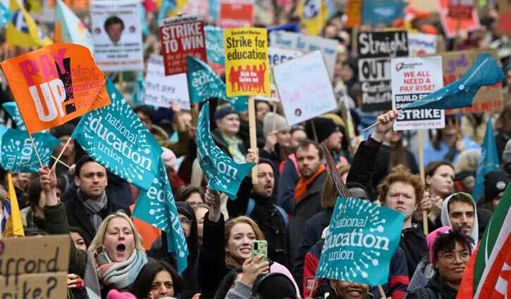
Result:
<svg viewBox="0 0 511 299"><path fill-rule="evenodd" d="M128 260L112 262L106 250L94 255L93 251L87 253L87 266L85 267L85 286L90 298L101 298L102 286L112 286L117 290L124 290L131 286L138 273L147 264L147 256L140 250L134 249ZM96 269L94 261L99 267ZM99 282L101 281L101 284Z"/></svg>

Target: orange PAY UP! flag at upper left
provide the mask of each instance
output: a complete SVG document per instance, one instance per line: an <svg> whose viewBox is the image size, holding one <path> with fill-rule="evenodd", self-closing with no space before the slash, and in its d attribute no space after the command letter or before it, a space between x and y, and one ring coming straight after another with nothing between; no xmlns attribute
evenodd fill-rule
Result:
<svg viewBox="0 0 511 299"><path fill-rule="evenodd" d="M85 46L46 46L10 58L1 68L30 134L110 103L104 75Z"/></svg>

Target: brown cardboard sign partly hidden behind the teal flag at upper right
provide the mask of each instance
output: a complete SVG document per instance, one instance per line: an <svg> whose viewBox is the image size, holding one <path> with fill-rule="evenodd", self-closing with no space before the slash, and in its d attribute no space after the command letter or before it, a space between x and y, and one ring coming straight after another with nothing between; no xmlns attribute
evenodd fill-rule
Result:
<svg viewBox="0 0 511 299"><path fill-rule="evenodd" d="M442 56L443 84L447 85L460 79L472 66L480 53L490 53L498 61L496 49L467 50L439 53ZM472 107L446 110L446 114L455 113L498 113L503 110L502 83L493 86L484 86L479 89L474 97Z"/></svg>

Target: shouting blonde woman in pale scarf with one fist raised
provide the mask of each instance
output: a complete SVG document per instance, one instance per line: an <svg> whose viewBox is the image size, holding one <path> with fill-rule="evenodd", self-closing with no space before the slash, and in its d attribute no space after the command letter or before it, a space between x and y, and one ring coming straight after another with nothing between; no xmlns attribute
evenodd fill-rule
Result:
<svg viewBox="0 0 511 299"><path fill-rule="evenodd" d="M55 170L39 169L40 183L47 198L44 221L49 234L69 234L66 208L56 196ZM90 299L106 298L111 289L128 289L147 264L142 237L124 212L107 216L87 252L72 244L69 272L83 277Z"/></svg>

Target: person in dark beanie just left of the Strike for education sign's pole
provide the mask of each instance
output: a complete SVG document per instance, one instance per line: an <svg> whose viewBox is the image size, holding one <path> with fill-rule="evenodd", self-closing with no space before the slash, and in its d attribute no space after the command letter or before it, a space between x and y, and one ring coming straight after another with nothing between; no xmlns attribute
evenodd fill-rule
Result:
<svg viewBox="0 0 511 299"><path fill-rule="evenodd" d="M215 111L215 122L216 129L211 134L215 144L235 163L245 163L247 150L238 137L240 115L231 106L221 106Z"/></svg>

